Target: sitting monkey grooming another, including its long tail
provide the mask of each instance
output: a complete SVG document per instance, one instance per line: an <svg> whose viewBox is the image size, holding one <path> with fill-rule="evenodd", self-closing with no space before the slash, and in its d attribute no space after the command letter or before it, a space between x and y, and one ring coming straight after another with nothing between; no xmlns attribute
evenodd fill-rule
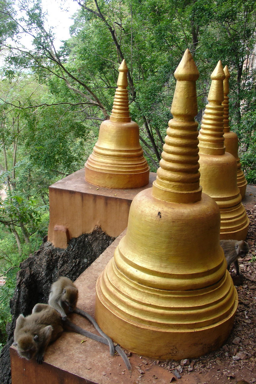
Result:
<svg viewBox="0 0 256 384"><path fill-rule="evenodd" d="M68 311L77 313L88 319L94 328L99 332L99 334L107 340L109 344L110 355L114 356L115 347L113 341L109 336L106 335L106 333L102 331L96 320L94 320L94 318L89 315L89 313L86 313L80 308L76 307L77 300L78 289L74 285L73 281L68 277L59 277L58 280L55 281L55 283L53 283L51 286L48 304L61 314L61 318L63 320L67 319L66 313L68 313Z"/></svg>

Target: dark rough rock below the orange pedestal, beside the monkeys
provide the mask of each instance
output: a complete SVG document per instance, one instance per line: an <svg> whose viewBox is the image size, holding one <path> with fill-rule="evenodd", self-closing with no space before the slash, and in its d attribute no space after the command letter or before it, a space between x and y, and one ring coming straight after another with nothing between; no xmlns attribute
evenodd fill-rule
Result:
<svg viewBox="0 0 256 384"><path fill-rule="evenodd" d="M17 317L31 313L36 303L47 303L50 286L59 276L76 280L79 275L114 241L101 228L70 240L67 249L55 248L47 242L20 264L15 293L10 300L12 323L7 326L8 341L0 354L0 383L11 383L9 348Z"/></svg>

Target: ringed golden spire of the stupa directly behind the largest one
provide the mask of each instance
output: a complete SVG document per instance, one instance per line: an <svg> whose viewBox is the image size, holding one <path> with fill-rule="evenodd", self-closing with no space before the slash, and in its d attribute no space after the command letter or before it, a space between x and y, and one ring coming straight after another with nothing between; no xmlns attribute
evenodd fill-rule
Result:
<svg viewBox="0 0 256 384"><path fill-rule="evenodd" d="M225 73L218 61L211 74L211 86L208 94L208 104L203 114L201 129L199 131L200 153L221 155L225 153L223 131L223 80Z"/></svg>

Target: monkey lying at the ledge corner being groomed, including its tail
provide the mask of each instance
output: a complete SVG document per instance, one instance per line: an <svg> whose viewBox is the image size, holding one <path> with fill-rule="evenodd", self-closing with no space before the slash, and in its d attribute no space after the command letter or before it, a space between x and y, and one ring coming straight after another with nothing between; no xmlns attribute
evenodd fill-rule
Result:
<svg viewBox="0 0 256 384"><path fill-rule="evenodd" d="M16 321L13 345L17 346L21 358L31 360L35 357L38 364L41 364L46 348L62 334L64 329L108 345L108 341L102 336L86 331L69 320L63 321L61 315L48 304L36 304L32 313L26 317L20 314ZM119 345L114 348L131 371L132 366L122 348Z"/></svg>

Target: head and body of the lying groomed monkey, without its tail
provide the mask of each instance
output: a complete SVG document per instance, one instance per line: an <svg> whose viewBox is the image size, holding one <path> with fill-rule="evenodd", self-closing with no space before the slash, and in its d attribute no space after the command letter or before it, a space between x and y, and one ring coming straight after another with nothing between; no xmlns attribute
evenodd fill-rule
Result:
<svg viewBox="0 0 256 384"><path fill-rule="evenodd" d="M20 357L27 360L36 357L41 364L49 343L63 332L59 313L50 305L36 304L32 313L24 317L20 314L14 330L14 345Z"/></svg>

